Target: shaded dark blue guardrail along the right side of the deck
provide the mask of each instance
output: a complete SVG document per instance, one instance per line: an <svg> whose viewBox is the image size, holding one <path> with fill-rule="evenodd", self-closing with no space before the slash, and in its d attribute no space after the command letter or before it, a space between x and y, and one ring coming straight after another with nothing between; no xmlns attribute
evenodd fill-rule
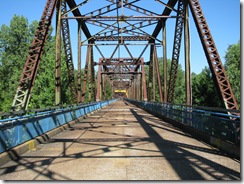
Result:
<svg viewBox="0 0 244 184"><path fill-rule="evenodd" d="M233 113L240 114L240 111L126 100L153 114L167 117L208 135L240 146L240 116L233 115Z"/></svg>

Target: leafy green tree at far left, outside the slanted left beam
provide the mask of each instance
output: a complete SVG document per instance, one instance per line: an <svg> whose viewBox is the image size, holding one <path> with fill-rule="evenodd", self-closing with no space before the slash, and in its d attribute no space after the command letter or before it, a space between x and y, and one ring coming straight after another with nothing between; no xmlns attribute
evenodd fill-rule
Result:
<svg viewBox="0 0 244 184"><path fill-rule="evenodd" d="M0 28L0 111L11 107L19 76L28 54L30 43L28 20L14 15L10 26Z"/></svg>

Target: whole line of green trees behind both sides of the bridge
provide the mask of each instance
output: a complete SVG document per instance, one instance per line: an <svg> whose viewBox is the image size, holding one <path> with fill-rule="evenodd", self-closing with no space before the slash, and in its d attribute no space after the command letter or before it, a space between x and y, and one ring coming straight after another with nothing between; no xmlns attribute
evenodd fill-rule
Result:
<svg viewBox="0 0 244 184"><path fill-rule="evenodd" d="M37 25L37 21L29 24L27 18L14 15L9 26L2 25L0 27L0 111L7 112L11 109L19 78ZM29 109L54 106L55 36L52 36L52 31L53 29L51 28L30 98ZM61 63L62 103L71 104L64 53L62 53ZM170 63L170 60L168 60L168 74ZM159 59L159 67L161 71L161 82L163 82L162 59ZM240 105L240 42L229 45L227 48L225 68L237 102ZM83 72L84 70L82 70ZM75 71L75 74L77 76L77 71ZM179 66L175 89L176 104L185 103L184 75L184 70ZM109 88L106 88L106 90L107 94L111 96ZM193 105L221 107L221 100L218 97L208 67L205 67L199 74L192 73L192 94ZM156 96L156 100L159 100L158 95Z"/></svg>

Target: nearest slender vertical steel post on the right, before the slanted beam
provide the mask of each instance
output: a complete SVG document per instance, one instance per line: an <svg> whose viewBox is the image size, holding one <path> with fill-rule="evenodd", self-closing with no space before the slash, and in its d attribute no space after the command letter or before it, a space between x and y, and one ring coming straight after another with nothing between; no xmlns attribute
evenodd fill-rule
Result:
<svg viewBox="0 0 244 184"><path fill-rule="evenodd" d="M186 104L192 105L191 65L190 65L190 30L189 30L188 6L189 6L188 2L185 1L185 19L184 19L185 85L186 85Z"/></svg>

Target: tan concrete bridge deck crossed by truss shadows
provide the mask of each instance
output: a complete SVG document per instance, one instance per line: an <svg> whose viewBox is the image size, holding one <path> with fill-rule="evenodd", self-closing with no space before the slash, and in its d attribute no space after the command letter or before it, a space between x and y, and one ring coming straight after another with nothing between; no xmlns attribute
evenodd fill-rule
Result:
<svg viewBox="0 0 244 184"><path fill-rule="evenodd" d="M123 101L0 167L1 180L235 180L228 158Z"/></svg>

